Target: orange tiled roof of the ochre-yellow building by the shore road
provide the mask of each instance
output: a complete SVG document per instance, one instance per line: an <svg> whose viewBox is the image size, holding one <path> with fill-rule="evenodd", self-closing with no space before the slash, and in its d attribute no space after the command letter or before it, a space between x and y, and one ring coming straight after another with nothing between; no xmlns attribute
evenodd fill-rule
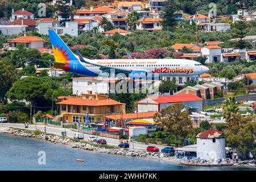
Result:
<svg viewBox="0 0 256 182"><path fill-rule="evenodd" d="M102 99L102 100L92 100L92 99L84 99L82 97L70 97L67 100L58 102L56 104L63 105L79 105L79 106L108 106L108 105L123 105L125 103L117 102L112 100L111 98Z"/></svg>

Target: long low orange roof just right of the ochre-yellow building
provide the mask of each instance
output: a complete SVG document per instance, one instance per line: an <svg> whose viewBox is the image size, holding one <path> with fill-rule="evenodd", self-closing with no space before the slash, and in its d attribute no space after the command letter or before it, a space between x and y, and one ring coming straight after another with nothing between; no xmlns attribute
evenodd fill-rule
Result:
<svg viewBox="0 0 256 182"><path fill-rule="evenodd" d="M156 112L155 111L150 111L150 112L144 112L144 113L127 113L127 114L123 114L122 115L122 119L133 119L133 118L147 118L147 117L153 117L154 114ZM109 119L121 119L121 115L120 114L112 114L112 115L107 115L106 118Z"/></svg>

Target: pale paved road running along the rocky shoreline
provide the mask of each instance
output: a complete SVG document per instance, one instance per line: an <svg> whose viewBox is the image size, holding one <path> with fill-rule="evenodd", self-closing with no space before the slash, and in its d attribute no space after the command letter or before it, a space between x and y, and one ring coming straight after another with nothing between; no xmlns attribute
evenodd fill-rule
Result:
<svg viewBox="0 0 256 182"><path fill-rule="evenodd" d="M0 123L1 126L1 123ZM19 129L24 129L24 124L19 124L19 123L3 123L4 127L15 127ZM44 131L44 125L36 125L36 129L39 129L41 131ZM27 130L35 130L35 125L29 125ZM51 127L51 126L46 126L46 132L55 134L55 135L61 135L61 131L64 131L63 128L59 127ZM70 129L66 129L67 131L67 137L73 138L73 135L76 133L76 131L72 131ZM85 140L88 140L89 134L84 134ZM104 138L104 137L98 137L98 139ZM107 144L112 145L112 146L118 146L119 140L118 139L113 139L113 138L104 138L107 141ZM140 144L140 143L134 143L134 149L137 150L146 150L148 145L146 144ZM159 146L155 145L158 147L160 150L164 148L164 146ZM130 143L130 148L133 148L133 142Z"/></svg>

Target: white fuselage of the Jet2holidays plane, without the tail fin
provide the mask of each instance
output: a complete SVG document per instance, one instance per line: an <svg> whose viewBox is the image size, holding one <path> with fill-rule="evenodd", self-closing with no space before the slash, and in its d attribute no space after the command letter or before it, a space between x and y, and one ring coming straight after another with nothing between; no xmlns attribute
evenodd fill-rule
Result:
<svg viewBox="0 0 256 182"><path fill-rule="evenodd" d="M81 62L80 62L81 63ZM146 71L158 73L159 76L193 76L209 71L209 68L193 60L184 59L115 59L90 60L90 63L122 69L123 71ZM81 63L91 72L101 74L100 66Z"/></svg>

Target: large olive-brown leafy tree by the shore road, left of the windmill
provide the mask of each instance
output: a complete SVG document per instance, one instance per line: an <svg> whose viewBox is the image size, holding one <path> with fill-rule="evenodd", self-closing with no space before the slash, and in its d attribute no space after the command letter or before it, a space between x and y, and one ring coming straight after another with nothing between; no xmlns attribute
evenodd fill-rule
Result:
<svg viewBox="0 0 256 182"><path fill-rule="evenodd" d="M183 144L184 139L192 128L192 121L191 118L189 118L189 113L188 111L181 111L183 109L183 104L175 103L154 115L155 123L164 127L164 131L168 132L172 143L175 143L177 146Z"/></svg>

